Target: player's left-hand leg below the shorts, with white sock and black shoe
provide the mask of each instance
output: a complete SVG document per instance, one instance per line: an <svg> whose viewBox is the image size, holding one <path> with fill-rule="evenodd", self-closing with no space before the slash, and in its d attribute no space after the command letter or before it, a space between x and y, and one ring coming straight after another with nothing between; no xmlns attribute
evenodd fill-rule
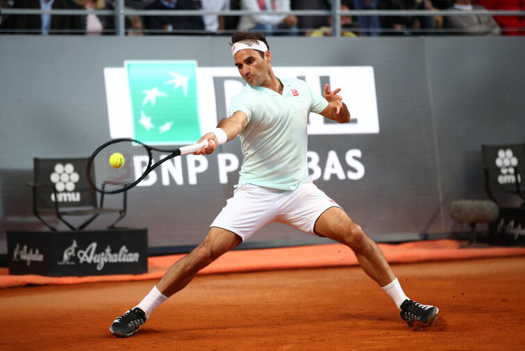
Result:
<svg viewBox="0 0 525 351"><path fill-rule="evenodd" d="M110 331L118 337L133 336L149 318L153 309L188 285L199 270L239 245L241 241L240 236L231 231L217 227L210 228L203 242L190 254L174 263L137 306L113 321Z"/></svg>

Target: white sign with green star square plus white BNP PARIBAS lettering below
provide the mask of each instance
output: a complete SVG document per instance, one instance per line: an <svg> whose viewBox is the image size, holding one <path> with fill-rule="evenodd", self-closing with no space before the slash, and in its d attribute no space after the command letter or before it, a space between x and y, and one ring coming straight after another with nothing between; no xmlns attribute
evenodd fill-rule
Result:
<svg viewBox="0 0 525 351"><path fill-rule="evenodd" d="M310 113L308 170L314 180L359 180L365 177L360 149L315 149L315 136L379 133L374 69L372 67L274 67L278 77L297 77L314 92L324 85L341 88L340 95L351 113L351 122L338 124ZM111 138L133 138L149 145L186 145L227 116L233 96L246 85L236 67L198 67L194 60L126 61L123 67L104 69ZM321 152L323 154L321 154ZM165 157L167 155L160 155ZM324 161L326 160L326 161ZM196 185L215 163L220 184L238 174L242 159L228 152L211 157L188 155L163 163L139 186ZM135 166L145 167L140 160ZM215 167L213 167L215 168ZM141 172L138 172L140 174Z"/></svg>

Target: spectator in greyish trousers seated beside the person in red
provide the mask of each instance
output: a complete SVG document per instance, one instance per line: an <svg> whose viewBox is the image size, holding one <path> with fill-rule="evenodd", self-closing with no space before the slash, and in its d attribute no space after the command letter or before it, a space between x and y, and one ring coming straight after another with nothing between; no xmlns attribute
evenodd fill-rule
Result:
<svg viewBox="0 0 525 351"><path fill-rule="evenodd" d="M471 0L456 0L451 10L485 10L481 5L472 5ZM497 22L490 15L461 15L445 16L444 28L447 28L448 34L462 35L500 35L501 30ZM451 30L451 31L450 31Z"/></svg>

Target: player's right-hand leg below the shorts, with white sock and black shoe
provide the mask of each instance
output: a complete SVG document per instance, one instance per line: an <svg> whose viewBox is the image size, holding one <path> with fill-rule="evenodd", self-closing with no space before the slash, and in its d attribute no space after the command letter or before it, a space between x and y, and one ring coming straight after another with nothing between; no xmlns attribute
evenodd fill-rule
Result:
<svg viewBox="0 0 525 351"><path fill-rule="evenodd" d="M439 312L437 307L419 304L408 299L392 272L383 252L363 228L357 225L339 207L331 207L317 219L315 233L336 240L353 250L361 268L392 297L401 310L401 318L408 325L414 322L431 325Z"/></svg>

